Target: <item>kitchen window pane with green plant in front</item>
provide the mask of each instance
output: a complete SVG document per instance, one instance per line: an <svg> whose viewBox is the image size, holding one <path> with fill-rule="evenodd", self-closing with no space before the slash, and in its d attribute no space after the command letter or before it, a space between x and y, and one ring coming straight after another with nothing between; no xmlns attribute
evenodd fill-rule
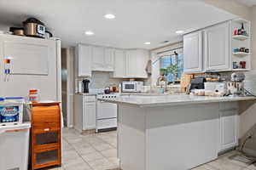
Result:
<svg viewBox="0 0 256 170"><path fill-rule="evenodd" d="M183 54L166 55L160 58L160 75L168 83L180 83L183 74Z"/></svg>

